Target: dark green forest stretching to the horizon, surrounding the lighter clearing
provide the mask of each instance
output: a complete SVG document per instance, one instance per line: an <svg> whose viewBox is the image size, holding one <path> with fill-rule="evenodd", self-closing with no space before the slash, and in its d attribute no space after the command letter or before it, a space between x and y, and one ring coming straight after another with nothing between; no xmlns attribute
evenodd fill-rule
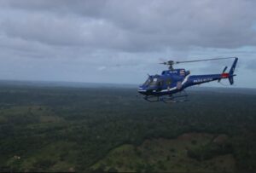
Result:
<svg viewBox="0 0 256 173"><path fill-rule="evenodd" d="M229 143L196 147L191 158L232 153L238 170L256 171L256 95L194 90L189 102L164 104L136 91L0 86L0 170L90 170L122 144L198 132Z"/></svg>

